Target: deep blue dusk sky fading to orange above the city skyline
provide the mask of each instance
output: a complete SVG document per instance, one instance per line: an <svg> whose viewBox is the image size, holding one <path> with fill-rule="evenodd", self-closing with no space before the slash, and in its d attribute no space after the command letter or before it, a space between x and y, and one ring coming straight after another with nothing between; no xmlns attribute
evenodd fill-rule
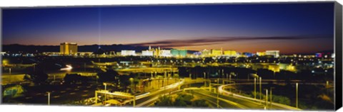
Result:
<svg viewBox="0 0 343 112"><path fill-rule="evenodd" d="M3 9L2 44L141 45L239 52L334 49L334 3Z"/></svg>

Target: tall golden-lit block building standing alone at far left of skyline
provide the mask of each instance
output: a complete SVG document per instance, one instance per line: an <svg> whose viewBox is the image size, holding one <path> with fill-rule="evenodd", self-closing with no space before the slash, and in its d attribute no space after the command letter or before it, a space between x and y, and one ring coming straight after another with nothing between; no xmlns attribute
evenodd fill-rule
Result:
<svg viewBox="0 0 343 112"><path fill-rule="evenodd" d="M59 53L61 55L74 55L77 53L76 43L61 43L59 45Z"/></svg>

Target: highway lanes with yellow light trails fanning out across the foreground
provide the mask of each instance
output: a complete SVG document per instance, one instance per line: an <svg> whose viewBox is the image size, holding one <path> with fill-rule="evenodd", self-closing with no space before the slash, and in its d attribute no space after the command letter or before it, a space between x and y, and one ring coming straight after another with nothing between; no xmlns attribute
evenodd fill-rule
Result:
<svg viewBox="0 0 343 112"><path fill-rule="evenodd" d="M187 80L189 81L189 80ZM185 82L189 83L189 82ZM252 99L245 96L240 96L238 94L232 94L229 93L229 91L225 91L222 89L224 86L222 85L218 86L220 94L218 94L218 101L219 101L219 108L242 108L242 109L264 109L266 108L264 106L263 101L259 101L257 99ZM215 88L215 86L213 86ZM217 108L217 93L214 93L212 91L207 91L204 89L201 89L199 87L192 87L192 88L184 88L187 92L193 94L194 96L198 96L199 98L202 98L206 100L212 107ZM161 95L170 95L175 94L178 92L181 92L181 90L177 89L162 89L159 91L154 91L153 93L146 95L144 98L136 100L137 107L140 106L151 106ZM280 103L272 103L272 107L267 107L266 109L272 109L272 110L301 110L299 108L294 108L292 106L286 106Z"/></svg>

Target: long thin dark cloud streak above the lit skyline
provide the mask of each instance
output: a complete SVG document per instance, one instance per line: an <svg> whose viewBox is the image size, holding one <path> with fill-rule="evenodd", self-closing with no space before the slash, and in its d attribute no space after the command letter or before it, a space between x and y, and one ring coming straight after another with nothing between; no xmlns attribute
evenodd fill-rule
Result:
<svg viewBox="0 0 343 112"><path fill-rule="evenodd" d="M315 37L317 38L317 37ZM159 40L148 43L132 43L128 45L134 46L159 46L159 47L187 47L187 46L201 46L214 45L219 43L227 43L234 41L248 41L248 40L303 40L313 39L309 37L207 37L191 40Z"/></svg>

